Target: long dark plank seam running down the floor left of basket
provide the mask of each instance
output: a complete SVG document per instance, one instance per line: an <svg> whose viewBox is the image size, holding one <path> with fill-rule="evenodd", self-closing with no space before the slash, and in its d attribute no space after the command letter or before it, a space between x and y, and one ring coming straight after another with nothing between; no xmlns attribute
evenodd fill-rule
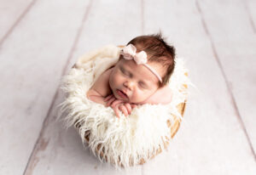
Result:
<svg viewBox="0 0 256 175"><path fill-rule="evenodd" d="M93 0L90 0L89 5L85 9L83 20L81 21L81 25L79 26L79 31L77 32L77 35L76 35L76 37L74 39L74 42L73 42L73 46L72 46L72 48L71 48L71 50L70 50L70 52L68 54L66 65L64 66L64 69L62 69L62 71L61 71L61 76L63 76L65 74L65 72L67 71L67 65L69 64L69 61L72 58L73 52L74 52L74 50L76 48L76 45L79 42L79 37L80 37L80 35L82 33L81 32L82 29L84 28L85 20L87 20L87 16L88 16L88 14L90 12L90 8L92 6L92 2L93 2ZM43 126L41 127L41 131L39 133L39 136L38 136L38 139L36 141L36 144L34 145L32 153L31 153L31 155L30 155L30 157L29 157L29 159L28 159L28 161L26 163L26 168L25 168L25 170L23 172L23 175L31 175L32 171L33 171L33 168L37 164L37 162L36 162L37 161L36 160L37 159L36 155L38 154L38 151L40 150L40 145L42 143L44 132L45 132L44 130L45 130L46 126L48 126L50 114L51 114L51 112L53 110L53 107L54 107L54 104L55 104L55 100L57 99L57 97L59 95L59 88L60 88L60 86L61 86L61 84L59 84L58 88L55 91L55 96L52 99L51 104L49 106L49 110L47 112L47 115L44 118Z"/></svg>

